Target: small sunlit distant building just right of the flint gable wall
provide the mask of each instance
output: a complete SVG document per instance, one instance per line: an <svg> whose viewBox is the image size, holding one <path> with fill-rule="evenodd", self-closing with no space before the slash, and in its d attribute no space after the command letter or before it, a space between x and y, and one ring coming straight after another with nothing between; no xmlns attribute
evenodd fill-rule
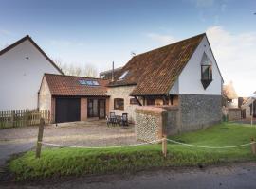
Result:
<svg viewBox="0 0 256 189"><path fill-rule="evenodd" d="M236 94L233 83L231 81L229 84L223 85L223 97L225 100L225 107L238 108L238 95Z"/></svg>

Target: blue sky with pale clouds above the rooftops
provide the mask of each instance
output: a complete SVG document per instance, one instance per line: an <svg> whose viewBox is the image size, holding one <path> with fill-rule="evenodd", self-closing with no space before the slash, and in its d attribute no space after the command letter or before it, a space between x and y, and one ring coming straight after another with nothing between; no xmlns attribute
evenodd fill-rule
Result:
<svg viewBox="0 0 256 189"><path fill-rule="evenodd" d="M52 60L99 72L206 32L226 83L256 91L255 0L0 0L0 49L30 35Z"/></svg>

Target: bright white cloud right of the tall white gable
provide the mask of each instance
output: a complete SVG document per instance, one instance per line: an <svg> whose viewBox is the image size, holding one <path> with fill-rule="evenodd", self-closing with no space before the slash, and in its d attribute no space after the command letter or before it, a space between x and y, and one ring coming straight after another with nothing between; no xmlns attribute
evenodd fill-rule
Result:
<svg viewBox="0 0 256 189"><path fill-rule="evenodd" d="M256 90L256 32L233 34L222 26L211 26L207 35L226 82L233 81L237 94Z"/></svg>

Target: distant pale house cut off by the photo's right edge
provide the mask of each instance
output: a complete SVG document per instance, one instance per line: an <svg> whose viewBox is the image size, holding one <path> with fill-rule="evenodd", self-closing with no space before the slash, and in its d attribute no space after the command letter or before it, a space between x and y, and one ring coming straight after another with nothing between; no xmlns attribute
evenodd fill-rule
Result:
<svg viewBox="0 0 256 189"><path fill-rule="evenodd" d="M254 92L253 94L256 94ZM253 103L253 106L252 106ZM253 111L252 111L253 108ZM241 106L243 118L251 118L252 112L253 117L256 117L256 99L248 97L244 104Z"/></svg>

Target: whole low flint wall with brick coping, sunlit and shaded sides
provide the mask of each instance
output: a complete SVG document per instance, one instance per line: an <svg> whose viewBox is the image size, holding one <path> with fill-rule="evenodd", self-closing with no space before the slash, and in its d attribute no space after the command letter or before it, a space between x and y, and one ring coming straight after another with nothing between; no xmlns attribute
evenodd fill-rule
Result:
<svg viewBox="0 0 256 189"><path fill-rule="evenodd" d="M177 133L177 116L177 107L138 107L136 109L137 140L154 141L161 139L163 134Z"/></svg>

